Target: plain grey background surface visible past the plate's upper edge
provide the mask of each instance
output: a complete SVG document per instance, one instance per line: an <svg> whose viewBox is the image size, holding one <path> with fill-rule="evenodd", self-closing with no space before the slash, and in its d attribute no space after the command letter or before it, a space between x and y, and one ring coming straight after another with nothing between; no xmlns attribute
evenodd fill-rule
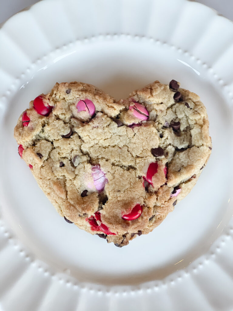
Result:
<svg viewBox="0 0 233 311"><path fill-rule="evenodd" d="M10 16L36 2L38 2L38 0L0 0L0 23L6 21ZM203 3L208 7L212 7L220 14L226 16L230 20L233 20L232 0L199 0L197 2Z"/></svg>

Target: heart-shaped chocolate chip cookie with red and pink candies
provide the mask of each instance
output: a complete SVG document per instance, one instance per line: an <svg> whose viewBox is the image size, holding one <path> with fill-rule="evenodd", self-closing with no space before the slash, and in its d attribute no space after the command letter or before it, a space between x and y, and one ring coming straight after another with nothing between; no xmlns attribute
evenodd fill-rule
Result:
<svg viewBox="0 0 233 311"><path fill-rule="evenodd" d="M69 223L116 246L148 234L193 188L211 154L199 96L155 81L125 100L56 83L14 136L39 187Z"/></svg>

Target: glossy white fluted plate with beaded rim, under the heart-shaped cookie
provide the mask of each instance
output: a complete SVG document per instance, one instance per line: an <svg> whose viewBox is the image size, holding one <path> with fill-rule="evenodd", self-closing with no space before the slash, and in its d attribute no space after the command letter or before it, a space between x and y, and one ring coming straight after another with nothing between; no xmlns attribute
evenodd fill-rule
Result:
<svg viewBox="0 0 233 311"><path fill-rule="evenodd" d="M46 0L2 26L0 310L233 309L232 54L232 23L186 0ZM13 128L56 81L119 99L157 79L200 95L212 155L158 228L117 248L57 214Z"/></svg>

